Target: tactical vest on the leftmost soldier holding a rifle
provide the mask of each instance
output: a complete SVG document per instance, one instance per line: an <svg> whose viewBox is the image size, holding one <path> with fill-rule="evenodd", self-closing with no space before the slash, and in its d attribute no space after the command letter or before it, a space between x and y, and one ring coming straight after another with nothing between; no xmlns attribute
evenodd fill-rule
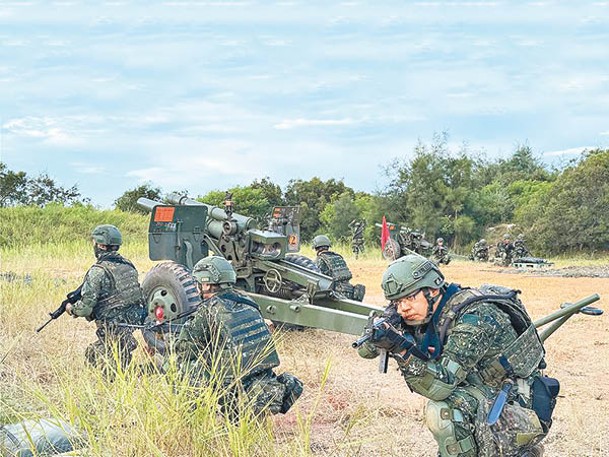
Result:
<svg viewBox="0 0 609 457"><path fill-rule="evenodd" d="M110 288L100 291L94 310L95 319L108 319L123 309L143 305L137 270L127 259L112 253L100 258L91 268L104 270L110 281Z"/></svg>

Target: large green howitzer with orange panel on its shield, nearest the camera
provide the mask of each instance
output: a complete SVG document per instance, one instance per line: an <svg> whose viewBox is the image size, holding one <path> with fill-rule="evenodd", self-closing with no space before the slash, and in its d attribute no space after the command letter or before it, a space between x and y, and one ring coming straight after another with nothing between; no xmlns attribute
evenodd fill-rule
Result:
<svg viewBox="0 0 609 457"><path fill-rule="evenodd" d="M275 207L276 223L269 224L273 231L259 229L253 218L232 211L232 201L225 202L229 211L178 194L169 195L167 202L138 200L150 211L150 259L170 261L157 264L142 282L148 320L173 320L198 306L200 297L190 271L210 253L231 262L236 287L274 322L359 335L370 313L379 311L335 292L331 277L296 254L298 208ZM144 332L148 344L157 346L150 336Z"/></svg>

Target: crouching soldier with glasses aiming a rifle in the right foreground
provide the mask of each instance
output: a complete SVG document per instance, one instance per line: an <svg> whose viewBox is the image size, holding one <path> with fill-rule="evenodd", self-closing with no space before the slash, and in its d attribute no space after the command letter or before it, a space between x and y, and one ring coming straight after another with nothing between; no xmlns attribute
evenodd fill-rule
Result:
<svg viewBox="0 0 609 457"><path fill-rule="evenodd" d="M425 422L439 455L542 455L558 392L538 394L551 378L540 374L544 349L516 292L447 284L417 255L391 263L381 285L391 301L387 321L369 323L359 353L388 351L409 388L429 399Z"/></svg>

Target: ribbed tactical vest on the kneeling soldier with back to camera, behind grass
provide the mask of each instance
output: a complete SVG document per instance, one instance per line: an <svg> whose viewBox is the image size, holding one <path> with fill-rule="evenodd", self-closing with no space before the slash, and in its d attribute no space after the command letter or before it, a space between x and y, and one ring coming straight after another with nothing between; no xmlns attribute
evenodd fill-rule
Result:
<svg viewBox="0 0 609 457"><path fill-rule="evenodd" d="M258 306L246 297L232 300L234 295L234 291L220 293L203 304L207 307L212 343L217 337L222 350L227 379L279 365L271 333Z"/></svg>

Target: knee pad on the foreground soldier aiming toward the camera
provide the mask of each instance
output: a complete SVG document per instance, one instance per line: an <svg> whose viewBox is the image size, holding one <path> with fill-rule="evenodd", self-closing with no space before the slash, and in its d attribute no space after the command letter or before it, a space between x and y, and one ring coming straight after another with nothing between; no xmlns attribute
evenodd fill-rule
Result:
<svg viewBox="0 0 609 457"><path fill-rule="evenodd" d="M463 413L445 401L429 401L425 424L437 441L442 457L475 456L476 442L465 424ZM457 428L460 433L457 433Z"/></svg>

